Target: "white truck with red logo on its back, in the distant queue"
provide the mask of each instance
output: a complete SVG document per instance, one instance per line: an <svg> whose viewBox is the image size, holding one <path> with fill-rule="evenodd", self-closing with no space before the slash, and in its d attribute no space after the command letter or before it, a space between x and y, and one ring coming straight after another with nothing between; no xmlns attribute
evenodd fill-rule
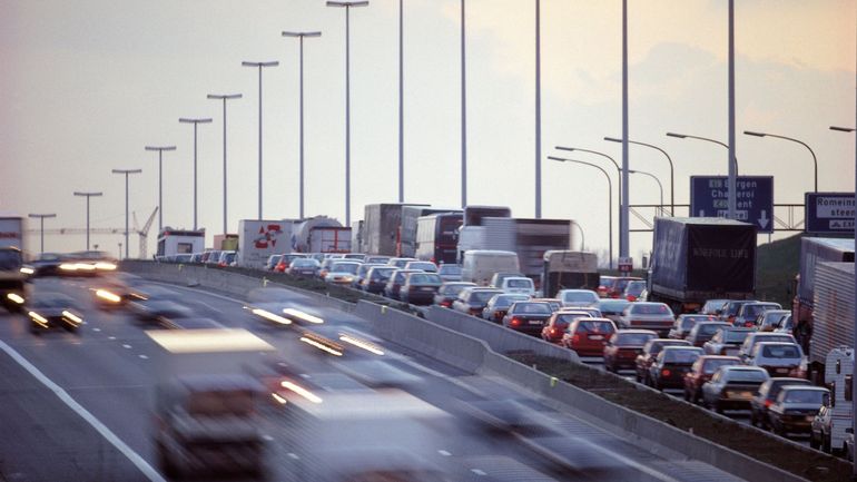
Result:
<svg viewBox="0 0 857 482"><path fill-rule="evenodd" d="M248 268L265 266L270 255L292 253L290 219L242 219L238 222L236 264Z"/></svg>

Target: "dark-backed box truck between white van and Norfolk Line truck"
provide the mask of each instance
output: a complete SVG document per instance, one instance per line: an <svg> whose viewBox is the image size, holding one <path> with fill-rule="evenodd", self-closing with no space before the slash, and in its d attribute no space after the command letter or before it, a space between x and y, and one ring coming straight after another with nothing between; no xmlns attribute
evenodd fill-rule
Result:
<svg viewBox="0 0 857 482"><path fill-rule="evenodd" d="M552 298L560 289L592 289L599 285L598 255L552 249L544 253L542 296Z"/></svg>

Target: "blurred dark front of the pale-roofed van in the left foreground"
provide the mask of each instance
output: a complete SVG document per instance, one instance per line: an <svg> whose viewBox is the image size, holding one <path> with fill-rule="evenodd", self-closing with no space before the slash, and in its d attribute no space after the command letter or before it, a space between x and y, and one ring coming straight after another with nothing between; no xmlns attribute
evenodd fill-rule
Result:
<svg viewBox="0 0 857 482"><path fill-rule="evenodd" d="M185 375L156 388L155 447L167 476L265 473L264 387L247 375Z"/></svg>

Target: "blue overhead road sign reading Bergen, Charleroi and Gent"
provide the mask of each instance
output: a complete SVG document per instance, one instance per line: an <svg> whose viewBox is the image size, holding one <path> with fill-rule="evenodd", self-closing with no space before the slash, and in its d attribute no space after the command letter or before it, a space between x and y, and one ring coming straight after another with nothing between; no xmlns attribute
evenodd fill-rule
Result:
<svg viewBox="0 0 857 482"><path fill-rule="evenodd" d="M755 224L759 233L774 232L774 176L738 176L736 217ZM726 176L690 176L690 215L726 217L729 189Z"/></svg>

